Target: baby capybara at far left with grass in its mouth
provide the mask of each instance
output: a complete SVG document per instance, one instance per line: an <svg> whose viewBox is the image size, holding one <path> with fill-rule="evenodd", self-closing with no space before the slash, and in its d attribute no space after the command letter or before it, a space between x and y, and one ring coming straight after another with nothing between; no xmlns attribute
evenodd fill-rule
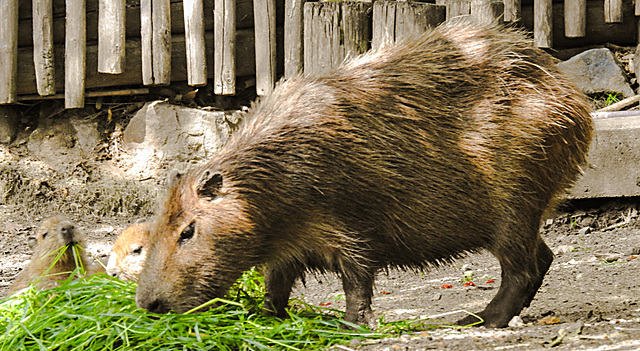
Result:
<svg viewBox="0 0 640 351"><path fill-rule="evenodd" d="M84 240L84 235L76 230L67 216L58 214L44 220L36 230L35 238L28 239L33 250L31 261L13 281L9 292L19 291L31 283L35 283L38 289L49 289L58 281L68 279L76 269L74 245L79 247L79 259L87 275L104 272L98 261L84 250ZM65 245L67 249L54 265L57 253Z"/></svg>

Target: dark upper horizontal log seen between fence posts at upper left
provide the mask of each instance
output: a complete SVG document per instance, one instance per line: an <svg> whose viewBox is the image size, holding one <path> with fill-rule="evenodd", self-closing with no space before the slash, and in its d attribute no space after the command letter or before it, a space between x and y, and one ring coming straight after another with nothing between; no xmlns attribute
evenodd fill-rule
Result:
<svg viewBox="0 0 640 351"><path fill-rule="evenodd" d="M140 37L140 5L139 0L135 5L127 0L126 11L126 37ZM64 43L64 5L56 8L56 4L60 3L54 0L53 14L53 42L56 44ZM62 1L64 4L64 1ZM20 13L25 9L22 6L27 5L31 11L31 1L20 2ZM213 1L204 1L203 13L205 31L213 31ZM87 0L87 41L93 42L98 40L98 0ZM253 0L237 0L236 1L236 28L253 28ZM284 0L276 0L276 24L278 27L284 24ZM21 17L19 23L18 46L33 46L33 37L31 35L31 14ZM171 32L175 34L184 34L184 11L182 10L182 0L171 0Z"/></svg>

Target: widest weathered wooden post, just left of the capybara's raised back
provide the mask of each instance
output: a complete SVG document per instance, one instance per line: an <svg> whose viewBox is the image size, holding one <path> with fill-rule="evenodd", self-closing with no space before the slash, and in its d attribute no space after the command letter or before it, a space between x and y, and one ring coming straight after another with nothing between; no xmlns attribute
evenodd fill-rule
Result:
<svg viewBox="0 0 640 351"><path fill-rule="evenodd" d="M304 4L304 74L328 73L367 51L370 14L371 4L364 2Z"/></svg>

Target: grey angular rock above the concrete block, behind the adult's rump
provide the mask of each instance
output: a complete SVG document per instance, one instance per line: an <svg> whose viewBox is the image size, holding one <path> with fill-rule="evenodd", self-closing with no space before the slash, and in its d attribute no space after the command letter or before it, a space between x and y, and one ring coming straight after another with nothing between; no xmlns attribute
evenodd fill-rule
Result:
<svg viewBox="0 0 640 351"><path fill-rule="evenodd" d="M587 50L558 64L585 94L619 93L635 95L627 82L624 69L613 53L606 48Z"/></svg>

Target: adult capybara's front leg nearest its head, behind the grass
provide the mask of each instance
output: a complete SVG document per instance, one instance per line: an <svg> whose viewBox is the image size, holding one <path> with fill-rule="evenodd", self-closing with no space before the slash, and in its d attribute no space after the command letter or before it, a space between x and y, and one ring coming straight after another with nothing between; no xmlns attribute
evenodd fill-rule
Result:
<svg viewBox="0 0 640 351"><path fill-rule="evenodd" d="M291 288L303 271L299 265L267 266L264 269L264 309L266 314L287 317L287 304Z"/></svg>

